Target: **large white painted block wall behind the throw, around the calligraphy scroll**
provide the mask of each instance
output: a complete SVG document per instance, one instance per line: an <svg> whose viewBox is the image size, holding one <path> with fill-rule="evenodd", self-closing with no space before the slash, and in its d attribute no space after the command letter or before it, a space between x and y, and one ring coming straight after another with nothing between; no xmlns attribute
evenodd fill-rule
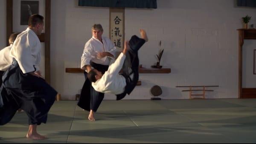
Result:
<svg viewBox="0 0 256 144"><path fill-rule="evenodd" d="M150 99L154 85L163 89L163 99L189 98L183 88L175 87L182 85L219 85L206 98L238 98L236 29L242 28L246 14L256 25L256 9L238 8L235 0L157 0L157 9L125 9L125 39L139 35L140 28L148 33L140 64L149 68L157 61L161 40L160 64L172 69L169 74L140 74L142 86L125 99ZM74 99L84 83L83 74L65 73L65 68L80 67L93 23L101 23L108 36L109 9L78 7L78 0L52 0L51 85L62 99ZM107 94L105 99L115 96Z"/></svg>

